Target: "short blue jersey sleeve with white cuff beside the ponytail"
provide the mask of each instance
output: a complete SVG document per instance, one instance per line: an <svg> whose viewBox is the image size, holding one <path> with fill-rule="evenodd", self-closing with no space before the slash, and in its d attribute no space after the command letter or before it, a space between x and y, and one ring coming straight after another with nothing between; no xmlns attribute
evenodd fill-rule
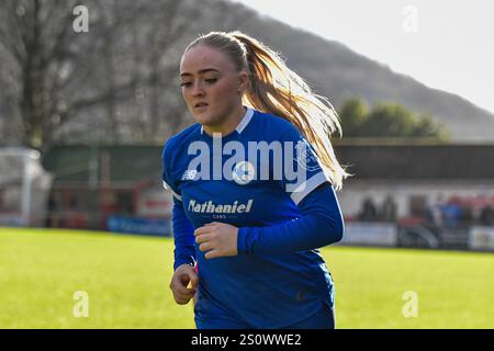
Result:
<svg viewBox="0 0 494 351"><path fill-rule="evenodd" d="M288 128L283 143L283 172L281 184L295 204L299 204L314 189L330 183L313 146L294 127Z"/></svg>

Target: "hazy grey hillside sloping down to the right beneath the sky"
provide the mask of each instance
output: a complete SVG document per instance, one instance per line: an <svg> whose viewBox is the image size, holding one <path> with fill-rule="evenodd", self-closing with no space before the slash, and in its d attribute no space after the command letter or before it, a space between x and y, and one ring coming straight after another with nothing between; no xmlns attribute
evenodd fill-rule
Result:
<svg viewBox="0 0 494 351"><path fill-rule="evenodd" d="M437 121L446 123L453 140L494 141L494 114L459 95L428 88L341 43L260 15L243 4L224 2L216 5L222 7L222 13L242 19L232 21L239 23L236 27L225 25L223 30L239 27L277 49L292 69L307 79L316 92L328 97L335 106L355 95L368 103L394 101L419 113L431 113ZM214 23L206 27L218 30L217 21Z"/></svg>

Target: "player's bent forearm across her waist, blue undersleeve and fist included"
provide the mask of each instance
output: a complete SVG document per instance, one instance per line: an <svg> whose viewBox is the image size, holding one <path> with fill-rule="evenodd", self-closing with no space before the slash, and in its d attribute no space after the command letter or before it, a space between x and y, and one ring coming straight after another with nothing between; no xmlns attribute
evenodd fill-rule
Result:
<svg viewBox="0 0 494 351"><path fill-rule="evenodd" d="M268 227L234 227L212 223L195 229L205 258L287 253L321 248L341 240L345 225L333 186L325 182L300 203L300 216Z"/></svg>

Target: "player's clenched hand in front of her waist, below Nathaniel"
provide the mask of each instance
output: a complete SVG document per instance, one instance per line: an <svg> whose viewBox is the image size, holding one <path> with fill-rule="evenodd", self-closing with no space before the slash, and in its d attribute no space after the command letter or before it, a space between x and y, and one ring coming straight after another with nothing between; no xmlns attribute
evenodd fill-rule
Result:
<svg viewBox="0 0 494 351"><path fill-rule="evenodd" d="M195 242L206 259L237 256L238 228L226 223L212 222L195 229Z"/></svg>

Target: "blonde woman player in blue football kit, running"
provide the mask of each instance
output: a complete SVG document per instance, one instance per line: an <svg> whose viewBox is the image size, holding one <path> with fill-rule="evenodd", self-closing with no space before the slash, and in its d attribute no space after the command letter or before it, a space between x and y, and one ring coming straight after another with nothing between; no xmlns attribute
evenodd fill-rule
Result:
<svg viewBox="0 0 494 351"><path fill-rule="evenodd" d="M175 301L199 329L335 328L334 283L317 250L344 220L340 124L280 56L242 32L194 39L180 86L195 124L171 137Z"/></svg>

